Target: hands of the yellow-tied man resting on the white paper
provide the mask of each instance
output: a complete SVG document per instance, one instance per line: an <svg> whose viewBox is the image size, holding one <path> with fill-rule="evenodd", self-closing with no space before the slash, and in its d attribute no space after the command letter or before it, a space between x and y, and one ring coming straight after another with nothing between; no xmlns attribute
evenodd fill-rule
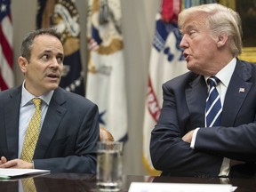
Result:
<svg viewBox="0 0 256 192"><path fill-rule="evenodd" d="M11 161L7 161L7 159L2 156L0 168L33 169L33 164L23 161L21 159L13 159Z"/></svg>

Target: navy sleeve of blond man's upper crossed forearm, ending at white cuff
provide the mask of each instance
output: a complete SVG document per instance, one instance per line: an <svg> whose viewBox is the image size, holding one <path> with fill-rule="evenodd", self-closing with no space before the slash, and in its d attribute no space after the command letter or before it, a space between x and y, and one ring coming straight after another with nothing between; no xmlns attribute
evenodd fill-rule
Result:
<svg viewBox="0 0 256 192"><path fill-rule="evenodd" d="M236 127L202 128L197 132L195 148L211 151L230 159L255 163L255 138L255 123L242 124Z"/></svg>

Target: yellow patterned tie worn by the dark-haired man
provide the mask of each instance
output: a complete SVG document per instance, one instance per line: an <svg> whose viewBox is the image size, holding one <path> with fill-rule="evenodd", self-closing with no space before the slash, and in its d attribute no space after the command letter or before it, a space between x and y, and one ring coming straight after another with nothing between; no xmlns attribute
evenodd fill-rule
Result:
<svg viewBox="0 0 256 192"><path fill-rule="evenodd" d="M34 156L36 143L38 140L40 125L41 125L41 99L34 98L33 103L36 106L36 111L32 116L25 135L25 140L23 143L23 148L21 151L20 158L27 162L32 162Z"/></svg>

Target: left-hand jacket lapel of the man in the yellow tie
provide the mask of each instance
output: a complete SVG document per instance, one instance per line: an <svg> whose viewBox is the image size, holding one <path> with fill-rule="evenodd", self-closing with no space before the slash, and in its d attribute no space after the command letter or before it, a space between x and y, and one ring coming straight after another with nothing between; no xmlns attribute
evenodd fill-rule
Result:
<svg viewBox="0 0 256 192"><path fill-rule="evenodd" d="M21 87L10 94L10 101L4 106L4 122L6 129L7 148L9 159L18 157L19 140L19 116L20 116L20 96Z"/></svg>

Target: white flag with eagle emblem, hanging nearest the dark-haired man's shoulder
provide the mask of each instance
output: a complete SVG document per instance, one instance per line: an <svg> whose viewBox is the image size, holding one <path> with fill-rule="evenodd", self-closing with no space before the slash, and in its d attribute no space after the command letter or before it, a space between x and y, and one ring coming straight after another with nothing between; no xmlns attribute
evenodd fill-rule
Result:
<svg viewBox="0 0 256 192"><path fill-rule="evenodd" d="M124 41L119 0L89 0L86 97L98 104L100 126L127 140Z"/></svg>

